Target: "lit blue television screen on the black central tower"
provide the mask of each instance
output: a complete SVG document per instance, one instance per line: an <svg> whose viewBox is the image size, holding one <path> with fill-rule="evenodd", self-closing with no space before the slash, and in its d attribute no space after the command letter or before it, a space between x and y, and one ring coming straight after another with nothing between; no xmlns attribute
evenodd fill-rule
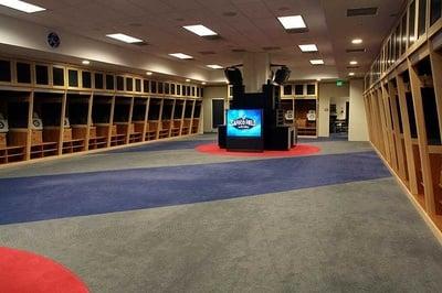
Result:
<svg viewBox="0 0 442 293"><path fill-rule="evenodd" d="M261 138L262 110L228 110L228 137Z"/></svg>

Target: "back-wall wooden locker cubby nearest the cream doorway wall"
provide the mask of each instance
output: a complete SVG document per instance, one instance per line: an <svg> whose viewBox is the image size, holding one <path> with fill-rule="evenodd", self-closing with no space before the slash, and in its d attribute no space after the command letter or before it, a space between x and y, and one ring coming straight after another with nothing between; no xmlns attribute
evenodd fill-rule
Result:
<svg viewBox="0 0 442 293"><path fill-rule="evenodd" d="M316 137L317 123L316 120L308 120L307 115L311 111L316 113L316 99L295 99L295 123L298 135Z"/></svg>

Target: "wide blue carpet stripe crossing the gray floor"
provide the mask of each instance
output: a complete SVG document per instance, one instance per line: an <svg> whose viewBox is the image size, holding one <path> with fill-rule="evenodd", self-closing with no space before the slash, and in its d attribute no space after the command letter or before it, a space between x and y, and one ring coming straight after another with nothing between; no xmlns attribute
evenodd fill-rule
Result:
<svg viewBox="0 0 442 293"><path fill-rule="evenodd" d="M390 176L373 152L0 180L0 224L227 199Z"/></svg>

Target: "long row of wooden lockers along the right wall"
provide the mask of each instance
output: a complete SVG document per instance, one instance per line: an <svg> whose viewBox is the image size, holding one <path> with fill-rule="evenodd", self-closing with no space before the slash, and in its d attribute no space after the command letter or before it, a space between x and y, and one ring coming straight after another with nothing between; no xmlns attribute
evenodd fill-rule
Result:
<svg viewBox="0 0 442 293"><path fill-rule="evenodd" d="M381 54L366 76L365 91L371 143L408 188L417 206L428 215L429 223L440 230L441 14L439 1L409 2L398 29L387 37Z"/></svg>

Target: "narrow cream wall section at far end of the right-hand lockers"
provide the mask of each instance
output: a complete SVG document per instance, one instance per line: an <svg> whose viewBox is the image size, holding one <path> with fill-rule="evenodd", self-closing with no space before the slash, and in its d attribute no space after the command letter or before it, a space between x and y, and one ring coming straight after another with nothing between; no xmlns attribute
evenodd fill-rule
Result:
<svg viewBox="0 0 442 293"><path fill-rule="evenodd" d="M364 104L364 80L350 82L350 121L349 141L368 141L366 108Z"/></svg>

